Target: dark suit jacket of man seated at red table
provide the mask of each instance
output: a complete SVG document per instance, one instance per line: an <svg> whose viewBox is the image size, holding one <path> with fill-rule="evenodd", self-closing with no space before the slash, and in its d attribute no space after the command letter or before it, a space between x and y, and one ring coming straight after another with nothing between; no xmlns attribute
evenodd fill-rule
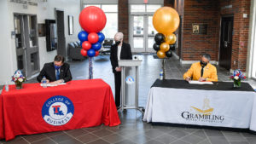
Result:
<svg viewBox="0 0 256 144"><path fill-rule="evenodd" d="M44 64L44 67L37 78L39 83L41 83L41 80L44 78L44 76L46 79L49 79L49 82L54 82L56 80L54 62ZM72 80L72 75L67 63L64 63L61 66L60 79L63 79L65 82Z"/></svg>

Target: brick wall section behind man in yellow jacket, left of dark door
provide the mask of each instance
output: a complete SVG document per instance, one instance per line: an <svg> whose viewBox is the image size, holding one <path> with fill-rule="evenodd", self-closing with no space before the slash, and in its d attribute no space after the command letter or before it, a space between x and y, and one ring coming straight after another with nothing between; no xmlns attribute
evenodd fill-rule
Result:
<svg viewBox="0 0 256 144"><path fill-rule="evenodd" d="M193 34L192 26L207 25L207 34ZM218 60L218 2L185 0L183 10L182 60L200 60L207 53Z"/></svg>

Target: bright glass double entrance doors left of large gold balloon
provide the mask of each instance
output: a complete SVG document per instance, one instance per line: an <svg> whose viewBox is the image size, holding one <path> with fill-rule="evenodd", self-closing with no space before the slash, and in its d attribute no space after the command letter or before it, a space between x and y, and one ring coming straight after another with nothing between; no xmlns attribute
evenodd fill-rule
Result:
<svg viewBox="0 0 256 144"><path fill-rule="evenodd" d="M154 35L157 33L153 26L153 15L131 15L131 51L154 52Z"/></svg>

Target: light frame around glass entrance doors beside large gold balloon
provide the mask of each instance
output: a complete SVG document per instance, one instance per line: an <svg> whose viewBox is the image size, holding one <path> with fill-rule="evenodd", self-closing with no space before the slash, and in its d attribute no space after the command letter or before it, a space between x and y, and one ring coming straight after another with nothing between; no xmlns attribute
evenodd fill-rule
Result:
<svg viewBox="0 0 256 144"><path fill-rule="evenodd" d="M153 16L154 13L131 13L130 14L130 38L129 38L129 43L131 44L131 52L154 52L154 49L148 49L148 16ZM142 49L143 51L136 50L134 49L133 46L133 16L143 16L143 46L144 48Z"/></svg>

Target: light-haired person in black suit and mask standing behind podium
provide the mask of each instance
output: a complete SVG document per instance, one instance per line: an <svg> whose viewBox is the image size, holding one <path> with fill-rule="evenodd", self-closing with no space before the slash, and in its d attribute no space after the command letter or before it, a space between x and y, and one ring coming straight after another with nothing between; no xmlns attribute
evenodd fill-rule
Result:
<svg viewBox="0 0 256 144"><path fill-rule="evenodd" d="M120 89L121 89L121 67L119 60L132 60L131 46L129 43L124 43L124 34L117 32L114 35L115 43L111 46L110 61L114 74L115 86L115 106L120 107Z"/></svg>

